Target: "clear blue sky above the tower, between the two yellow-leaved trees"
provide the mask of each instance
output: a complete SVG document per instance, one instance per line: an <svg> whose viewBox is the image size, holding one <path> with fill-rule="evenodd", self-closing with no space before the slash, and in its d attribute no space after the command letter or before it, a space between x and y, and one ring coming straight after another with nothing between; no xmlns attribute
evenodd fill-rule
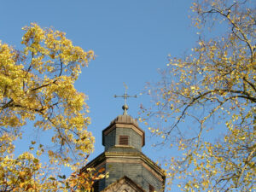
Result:
<svg viewBox="0 0 256 192"><path fill-rule="evenodd" d="M102 130L122 113L124 101L113 95L124 94L123 82L128 94L139 95L146 82L160 78L157 70L166 66L167 55L182 56L195 46L190 6L190 0L2 1L0 39L19 49L21 27L37 22L67 32L73 44L95 51L95 61L83 68L75 84L89 96L89 130L96 137L92 159L103 151ZM139 105L145 102L147 96L128 100L128 113L137 118ZM146 131L145 125L141 127ZM146 134L143 152L159 160L163 152L152 153L154 139Z"/></svg>

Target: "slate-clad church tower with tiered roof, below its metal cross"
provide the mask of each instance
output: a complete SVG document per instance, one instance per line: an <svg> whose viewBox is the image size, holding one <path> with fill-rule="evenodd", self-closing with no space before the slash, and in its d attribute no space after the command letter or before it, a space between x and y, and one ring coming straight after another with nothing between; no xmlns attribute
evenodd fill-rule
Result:
<svg viewBox="0 0 256 192"><path fill-rule="evenodd" d="M152 160L142 153L145 133L137 120L124 113L113 119L102 131L105 150L91 160L83 170L94 167L108 172L109 177L94 184L94 192L153 192L164 191L166 176Z"/></svg>

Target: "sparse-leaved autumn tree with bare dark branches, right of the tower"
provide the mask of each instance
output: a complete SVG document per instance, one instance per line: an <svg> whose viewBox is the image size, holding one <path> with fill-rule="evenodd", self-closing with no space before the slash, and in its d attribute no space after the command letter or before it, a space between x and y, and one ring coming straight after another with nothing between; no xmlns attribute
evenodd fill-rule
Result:
<svg viewBox="0 0 256 192"><path fill-rule="evenodd" d="M178 149L166 159L168 184L180 179L184 191L253 191L255 2L198 0L191 9L198 45L183 58L170 55L160 81L148 84L153 105L142 107L143 120L159 144Z"/></svg>

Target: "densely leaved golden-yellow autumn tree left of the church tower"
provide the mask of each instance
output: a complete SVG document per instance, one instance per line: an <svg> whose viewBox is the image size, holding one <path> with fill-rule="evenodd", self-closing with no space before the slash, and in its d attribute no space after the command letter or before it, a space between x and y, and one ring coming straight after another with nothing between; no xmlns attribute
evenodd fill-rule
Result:
<svg viewBox="0 0 256 192"><path fill-rule="evenodd" d="M23 49L0 43L0 190L87 189L93 173L76 170L84 166L94 137L86 129L86 96L74 82L94 52L74 46L64 32L52 28L32 23L23 30ZM44 143L32 138L17 156L15 141L27 131L27 122L34 123L32 131L50 137ZM60 174L61 166L71 168L72 176Z"/></svg>

